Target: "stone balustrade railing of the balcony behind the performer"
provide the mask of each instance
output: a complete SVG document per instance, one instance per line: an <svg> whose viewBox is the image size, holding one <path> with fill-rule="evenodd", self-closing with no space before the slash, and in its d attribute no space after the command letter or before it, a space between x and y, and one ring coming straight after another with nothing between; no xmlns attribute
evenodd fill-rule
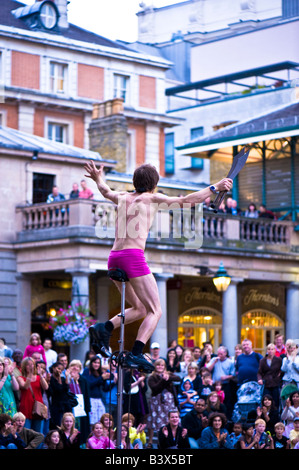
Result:
<svg viewBox="0 0 299 470"><path fill-rule="evenodd" d="M17 240L37 241L61 238L64 234L76 234L88 230L89 236L115 238L116 206L108 201L85 199L66 200L51 204L19 206L17 212ZM299 235L290 221L249 219L203 212L200 216L180 215L180 210L161 211L152 224L149 241L182 244L194 233L201 233L203 246L227 244L248 248L267 245L272 250L283 247L291 250L299 245ZM272 247L272 248L271 248ZM296 248L295 248L296 249ZM297 250L297 249L296 249Z"/></svg>

